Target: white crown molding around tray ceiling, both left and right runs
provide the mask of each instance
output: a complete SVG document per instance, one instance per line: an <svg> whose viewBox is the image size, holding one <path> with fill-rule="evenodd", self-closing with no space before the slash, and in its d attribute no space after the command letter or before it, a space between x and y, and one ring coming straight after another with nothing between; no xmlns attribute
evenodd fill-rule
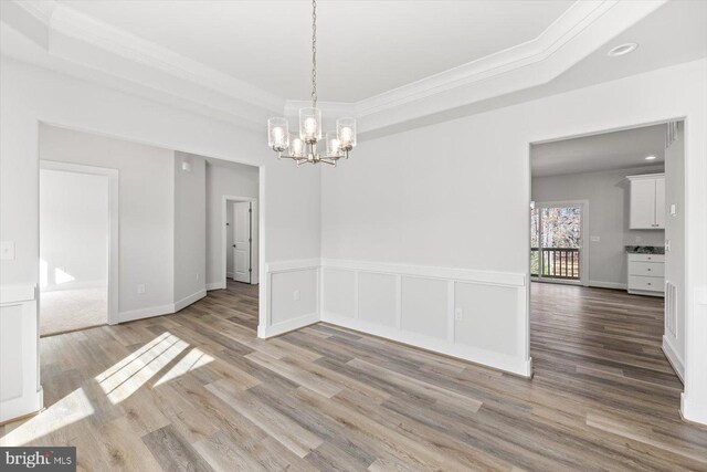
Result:
<svg viewBox="0 0 707 472"><path fill-rule="evenodd" d="M354 116L362 136L451 119L465 109L548 84L667 0L583 0L538 38L357 103L319 102L325 120ZM271 116L296 118L286 101L55 0L0 1L3 28L38 45L48 66L262 129ZM65 62L65 64L64 64ZM329 124L327 124L329 125Z"/></svg>

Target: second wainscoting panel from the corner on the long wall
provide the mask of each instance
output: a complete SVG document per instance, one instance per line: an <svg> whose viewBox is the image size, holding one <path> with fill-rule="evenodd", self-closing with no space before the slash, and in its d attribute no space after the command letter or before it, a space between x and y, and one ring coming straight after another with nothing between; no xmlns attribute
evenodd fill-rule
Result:
<svg viewBox="0 0 707 472"><path fill-rule="evenodd" d="M359 272L358 317L383 326L398 326L398 280L391 274Z"/></svg>

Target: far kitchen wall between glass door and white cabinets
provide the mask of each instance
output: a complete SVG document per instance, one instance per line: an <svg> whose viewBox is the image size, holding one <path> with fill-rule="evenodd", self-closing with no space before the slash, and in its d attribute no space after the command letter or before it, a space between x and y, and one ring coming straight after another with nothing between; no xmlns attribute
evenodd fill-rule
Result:
<svg viewBox="0 0 707 472"><path fill-rule="evenodd" d="M630 190L625 179L626 176L662 171L662 167L652 166L532 179L531 198L537 202L589 200L589 225L584 238L589 245L588 282L591 286L626 287L625 245L664 245L663 230L629 229ZM600 241L591 241L590 237L599 237Z"/></svg>

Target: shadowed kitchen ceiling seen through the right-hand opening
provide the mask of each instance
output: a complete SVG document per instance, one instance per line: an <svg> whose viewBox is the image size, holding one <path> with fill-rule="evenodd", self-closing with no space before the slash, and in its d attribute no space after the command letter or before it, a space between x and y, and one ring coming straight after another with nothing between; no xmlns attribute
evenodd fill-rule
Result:
<svg viewBox="0 0 707 472"><path fill-rule="evenodd" d="M534 145L534 177L630 169L665 162L665 124ZM647 156L656 159L645 160Z"/></svg>

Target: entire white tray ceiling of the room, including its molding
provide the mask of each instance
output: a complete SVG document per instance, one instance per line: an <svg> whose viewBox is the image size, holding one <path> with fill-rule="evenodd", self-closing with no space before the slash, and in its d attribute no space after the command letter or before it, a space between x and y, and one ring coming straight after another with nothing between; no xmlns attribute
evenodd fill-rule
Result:
<svg viewBox="0 0 707 472"><path fill-rule="evenodd" d="M319 4L319 106L361 139L707 56L707 1ZM308 98L309 8L0 0L0 54L262 132Z"/></svg>

